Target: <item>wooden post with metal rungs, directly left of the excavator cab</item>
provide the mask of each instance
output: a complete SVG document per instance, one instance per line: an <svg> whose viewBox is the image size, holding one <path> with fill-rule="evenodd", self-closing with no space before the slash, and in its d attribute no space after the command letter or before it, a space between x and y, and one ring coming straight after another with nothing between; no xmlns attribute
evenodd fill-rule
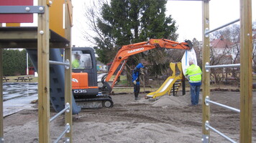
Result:
<svg viewBox="0 0 256 143"><path fill-rule="evenodd" d="M65 1L65 38L68 41L71 41L71 26L72 26L72 6L70 0ZM70 112L65 112L65 124L70 125L70 132L65 134L65 141L69 139L69 142L72 143L72 133L73 133L73 119L72 119L72 84L71 84L71 73L72 73L72 66L71 66L71 54L72 54L72 47L70 42L67 43L65 49L65 59L70 61L70 68L65 69L65 103L70 104Z"/></svg>

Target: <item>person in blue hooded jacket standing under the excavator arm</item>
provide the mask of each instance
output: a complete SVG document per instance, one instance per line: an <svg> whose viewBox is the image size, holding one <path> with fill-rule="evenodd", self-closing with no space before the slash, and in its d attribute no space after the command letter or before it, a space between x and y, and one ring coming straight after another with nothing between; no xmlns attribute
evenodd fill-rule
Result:
<svg viewBox="0 0 256 143"><path fill-rule="evenodd" d="M139 93L140 93L140 71L144 68L142 63L139 63L133 70L132 70L132 82L134 84L134 97L135 100L139 100ZM141 74L144 74L143 71Z"/></svg>

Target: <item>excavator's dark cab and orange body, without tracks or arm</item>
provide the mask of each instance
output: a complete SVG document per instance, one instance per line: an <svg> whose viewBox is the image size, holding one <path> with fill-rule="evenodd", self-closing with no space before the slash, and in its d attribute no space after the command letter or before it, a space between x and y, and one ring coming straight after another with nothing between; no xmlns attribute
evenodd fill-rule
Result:
<svg viewBox="0 0 256 143"><path fill-rule="evenodd" d="M99 93L96 59L91 48L72 50L72 89L77 98L93 97Z"/></svg>

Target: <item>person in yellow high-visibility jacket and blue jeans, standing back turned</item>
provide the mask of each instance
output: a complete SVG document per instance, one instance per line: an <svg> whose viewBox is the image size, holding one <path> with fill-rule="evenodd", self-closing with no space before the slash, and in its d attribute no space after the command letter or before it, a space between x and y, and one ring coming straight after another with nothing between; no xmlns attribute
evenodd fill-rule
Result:
<svg viewBox="0 0 256 143"><path fill-rule="evenodd" d="M189 66L186 69L186 76L188 76L188 82L191 85L191 104L192 106L198 104L199 92L201 87L201 74L202 71L199 66L193 64L193 61L189 61Z"/></svg>

